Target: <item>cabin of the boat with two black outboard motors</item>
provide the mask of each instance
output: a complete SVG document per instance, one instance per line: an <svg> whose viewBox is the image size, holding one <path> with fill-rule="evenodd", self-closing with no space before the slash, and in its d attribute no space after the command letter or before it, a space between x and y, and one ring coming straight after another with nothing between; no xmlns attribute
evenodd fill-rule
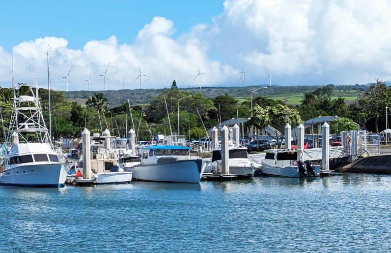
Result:
<svg viewBox="0 0 391 253"><path fill-rule="evenodd" d="M282 168L297 166L297 149L270 150L266 152L262 164Z"/></svg>

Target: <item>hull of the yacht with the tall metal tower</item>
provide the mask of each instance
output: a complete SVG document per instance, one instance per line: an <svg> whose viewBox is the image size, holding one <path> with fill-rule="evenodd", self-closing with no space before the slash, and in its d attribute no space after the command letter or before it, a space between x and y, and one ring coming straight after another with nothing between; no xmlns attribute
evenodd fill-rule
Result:
<svg viewBox="0 0 391 253"><path fill-rule="evenodd" d="M63 187L66 164L19 166L0 173L0 185L18 187Z"/></svg>

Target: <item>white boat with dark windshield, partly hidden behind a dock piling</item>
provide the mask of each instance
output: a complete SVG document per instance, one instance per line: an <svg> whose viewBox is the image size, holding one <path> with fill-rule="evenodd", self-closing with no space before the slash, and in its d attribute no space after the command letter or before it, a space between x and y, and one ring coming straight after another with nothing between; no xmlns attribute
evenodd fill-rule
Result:
<svg viewBox="0 0 391 253"><path fill-rule="evenodd" d="M222 159L221 145L219 146L216 149L212 149L211 163L206 166L205 173L218 171L218 164ZM228 155L229 173L236 174L233 179L248 179L254 175L257 166L254 166L248 158L247 148L236 147L230 140L228 141Z"/></svg>

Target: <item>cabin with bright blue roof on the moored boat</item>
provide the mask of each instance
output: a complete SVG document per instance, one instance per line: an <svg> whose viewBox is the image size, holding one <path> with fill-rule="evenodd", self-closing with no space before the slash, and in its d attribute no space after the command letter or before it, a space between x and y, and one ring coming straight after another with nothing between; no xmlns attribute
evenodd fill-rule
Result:
<svg viewBox="0 0 391 253"><path fill-rule="evenodd" d="M190 159L190 148L183 146L149 146L141 150L141 164L157 164Z"/></svg>

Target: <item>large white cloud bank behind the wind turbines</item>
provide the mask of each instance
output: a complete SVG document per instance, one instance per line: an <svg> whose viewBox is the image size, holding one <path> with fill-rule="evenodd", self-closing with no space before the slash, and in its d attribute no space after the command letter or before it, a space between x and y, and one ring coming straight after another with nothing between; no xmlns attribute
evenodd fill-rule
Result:
<svg viewBox="0 0 391 253"><path fill-rule="evenodd" d="M155 17L131 44L118 44L115 35L79 50L69 49L66 38L25 41L14 46L15 75L32 80L35 50L42 81L50 44L52 83L62 90L65 82L57 78L69 68L70 89L79 90L86 89L81 80L103 74L107 64L108 89L120 89L116 81L125 74L129 87L139 88L138 65L142 74L152 74L154 88L169 87L172 79L197 86L196 64L209 73L202 77L205 86L240 86L238 72L246 66L250 84L265 83L268 69L280 85L390 80L390 0L226 0L223 8L212 25L195 24L176 38L174 23ZM0 83L10 80L11 54L0 47ZM102 78L92 82L94 90L103 88Z"/></svg>

